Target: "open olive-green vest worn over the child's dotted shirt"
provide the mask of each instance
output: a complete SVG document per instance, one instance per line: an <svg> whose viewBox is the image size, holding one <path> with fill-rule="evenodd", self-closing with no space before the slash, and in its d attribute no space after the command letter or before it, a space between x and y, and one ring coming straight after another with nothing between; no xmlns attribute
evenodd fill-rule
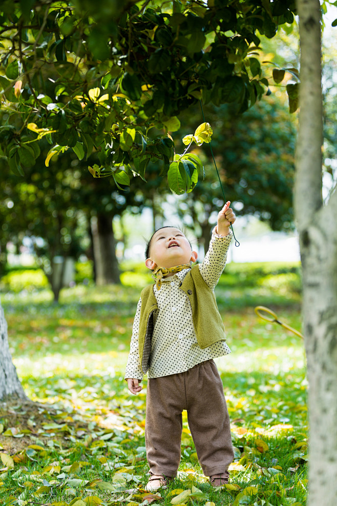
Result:
<svg viewBox="0 0 337 506"><path fill-rule="evenodd" d="M154 312L158 309L154 286L148 285L140 294L139 361L144 374L150 365ZM204 281L198 265L192 267L186 274L180 290L185 292L191 303L193 325L200 348L204 349L215 342L225 341L225 329L214 291Z"/></svg>

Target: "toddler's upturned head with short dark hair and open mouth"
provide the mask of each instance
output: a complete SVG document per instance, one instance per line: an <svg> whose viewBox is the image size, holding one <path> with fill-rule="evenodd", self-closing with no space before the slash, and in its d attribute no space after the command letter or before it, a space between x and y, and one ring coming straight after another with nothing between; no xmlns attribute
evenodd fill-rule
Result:
<svg viewBox="0 0 337 506"><path fill-rule="evenodd" d="M196 261L198 254L192 251L185 235L175 227L157 230L150 245L150 258L145 261L151 270L157 267L174 267Z"/></svg>

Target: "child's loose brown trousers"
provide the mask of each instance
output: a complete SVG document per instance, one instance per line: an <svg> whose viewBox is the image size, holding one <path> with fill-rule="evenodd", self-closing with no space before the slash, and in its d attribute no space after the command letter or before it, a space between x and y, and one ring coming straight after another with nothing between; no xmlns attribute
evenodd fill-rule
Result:
<svg viewBox="0 0 337 506"><path fill-rule="evenodd" d="M204 475L228 476L234 454L223 385L214 360L183 373L149 379L145 444L150 473L177 475L184 409Z"/></svg>

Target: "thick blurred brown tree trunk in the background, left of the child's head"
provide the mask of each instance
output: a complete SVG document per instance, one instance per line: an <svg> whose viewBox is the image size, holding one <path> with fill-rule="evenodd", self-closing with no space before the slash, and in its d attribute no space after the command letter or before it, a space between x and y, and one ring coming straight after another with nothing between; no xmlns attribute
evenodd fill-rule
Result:
<svg viewBox="0 0 337 506"><path fill-rule="evenodd" d="M102 213L91 219L97 286L120 283L112 218Z"/></svg>

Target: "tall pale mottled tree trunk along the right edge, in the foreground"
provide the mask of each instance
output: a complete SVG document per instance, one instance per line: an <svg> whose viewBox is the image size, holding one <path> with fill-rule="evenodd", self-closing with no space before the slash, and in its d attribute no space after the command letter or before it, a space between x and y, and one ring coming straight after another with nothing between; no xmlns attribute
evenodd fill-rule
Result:
<svg viewBox="0 0 337 506"><path fill-rule="evenodd" d="M337 497L337 191L322 200L322 90L319 0L298 0L300 127L294 203L303 266L303 321L309 383L307 506Z"/></svg>

